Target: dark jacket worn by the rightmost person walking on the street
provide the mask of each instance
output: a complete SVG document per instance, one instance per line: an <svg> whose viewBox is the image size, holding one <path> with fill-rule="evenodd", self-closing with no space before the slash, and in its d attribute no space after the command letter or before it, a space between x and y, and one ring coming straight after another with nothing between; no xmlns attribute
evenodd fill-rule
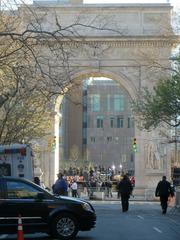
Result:
<svg viewBox="0 0 180 240"><path fill-rule="evenodd" d="M173 189L171 188L170 182L162 180L158 183L155 191L156 197L158 196L174 196Z"/></svg>

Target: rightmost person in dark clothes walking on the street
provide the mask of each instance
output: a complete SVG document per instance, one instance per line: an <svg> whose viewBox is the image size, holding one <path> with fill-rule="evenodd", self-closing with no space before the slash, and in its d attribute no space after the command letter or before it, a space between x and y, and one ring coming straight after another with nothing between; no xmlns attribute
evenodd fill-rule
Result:
<svg viewBox="0 0 180 240"><path fill-rule="evenodd" d="M166 180L166 176L163 176L162 180L158 182L155 195L156 197L160 197L162 214L166 214L168 207L168 197L174 196L173 189L171 188L170 182Z"/></svg>

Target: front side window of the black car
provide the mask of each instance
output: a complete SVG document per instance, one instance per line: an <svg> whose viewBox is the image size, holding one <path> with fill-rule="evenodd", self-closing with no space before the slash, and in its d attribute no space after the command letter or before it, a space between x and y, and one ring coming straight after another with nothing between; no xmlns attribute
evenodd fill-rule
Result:
<svg viewBox="0 0 180 240"><path fill-rule="evenodd" d="M35 199L39 191L23 182L7 181L7 195L9 199Z"/></svg>

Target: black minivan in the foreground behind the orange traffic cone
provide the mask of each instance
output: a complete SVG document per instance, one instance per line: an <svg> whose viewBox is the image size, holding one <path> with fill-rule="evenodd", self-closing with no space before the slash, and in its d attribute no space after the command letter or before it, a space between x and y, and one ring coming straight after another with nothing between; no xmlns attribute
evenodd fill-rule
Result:
<svg viewBox="0 0 180 240"><path fill-rule="evenodd" d="M96 224L94 208L84 200L56 197L26 179L0 177L0 233L17 233L19 215L24 233L46 232L65 240Z"/></svg>

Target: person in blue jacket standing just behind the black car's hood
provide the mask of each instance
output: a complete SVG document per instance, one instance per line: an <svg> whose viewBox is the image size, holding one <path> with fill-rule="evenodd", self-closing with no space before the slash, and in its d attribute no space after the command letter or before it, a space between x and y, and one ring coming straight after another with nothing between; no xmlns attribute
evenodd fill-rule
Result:
<svg viewBox="0 0 180 240"><path fill-rule="evenodd" d="M58 179L55 184L52 186L53 193L56 195L64 195L67 196L68 185L65 179L63 178L63 174L58 174Z"/></svg>

